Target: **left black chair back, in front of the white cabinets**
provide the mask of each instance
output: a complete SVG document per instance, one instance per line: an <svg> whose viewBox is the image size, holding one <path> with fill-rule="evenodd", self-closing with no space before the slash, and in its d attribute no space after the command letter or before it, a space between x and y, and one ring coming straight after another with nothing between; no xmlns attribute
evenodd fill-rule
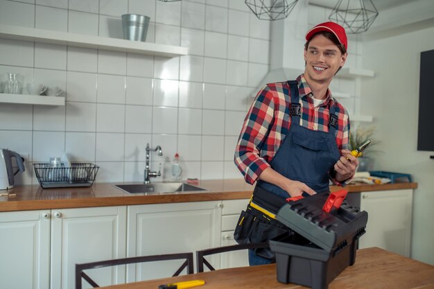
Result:
<svg viewBox="0 0 434 289"><path fill-rule="evenodd" d="M166 261L166 260L177 260L185 259L181 267L173 274L172 277L178 276L184 268L187 268L187 274L193 274L193 253L178 253L178 254L164 254L164 255L153 255L153 256L138 256L122 259L112 259L105 261L97 261L92 263L76 264L76 289L82 289L81 279L85 279L93 288L99 288L98 284L95 283L83 270L103 268L115 265L124 265L131 263L142 263L142 262L152 262L152 261Z"/></svg>

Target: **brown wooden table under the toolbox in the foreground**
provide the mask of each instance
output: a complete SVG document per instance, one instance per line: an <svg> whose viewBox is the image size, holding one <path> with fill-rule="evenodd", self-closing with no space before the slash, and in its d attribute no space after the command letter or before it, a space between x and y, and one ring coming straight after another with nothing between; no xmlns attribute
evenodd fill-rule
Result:
<svg viewBox="0 0 434 289"><path fill-rule="evenodd" d="M277 282L276 265L260 265L216 270L181 277L156 279L104 287L105 289L158 288L161 284L205 280L198 289L290 289L305 288L294 284ZM330 284L329 288L434 288L434 266L421 263L376 247L357 251L356 263L345 269Z"/></svg>

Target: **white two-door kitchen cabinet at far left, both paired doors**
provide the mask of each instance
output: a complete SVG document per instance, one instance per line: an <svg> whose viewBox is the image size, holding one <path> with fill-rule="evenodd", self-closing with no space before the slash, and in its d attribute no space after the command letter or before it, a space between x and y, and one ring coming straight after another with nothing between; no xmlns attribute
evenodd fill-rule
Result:
<svg viewBox="0 0 434 289"><path fill-rule="evenodd" d="M0 288L73 289L76 263L125 257L126 207L3 212L0 236ZM125 266L89 274L125 282Z"/></svg>

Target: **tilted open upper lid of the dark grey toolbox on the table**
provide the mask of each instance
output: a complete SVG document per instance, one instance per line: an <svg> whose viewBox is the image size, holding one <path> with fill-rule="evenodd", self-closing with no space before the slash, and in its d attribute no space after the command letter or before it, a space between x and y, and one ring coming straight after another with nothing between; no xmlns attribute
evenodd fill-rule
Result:
<svg viewBox="0 0 434 289"><path fill-rule="evenodd" d="M343 202L330 213L322 210L329 193L284 204L277 220L327 252L345 248L365 233L367 212Z"/></svg>

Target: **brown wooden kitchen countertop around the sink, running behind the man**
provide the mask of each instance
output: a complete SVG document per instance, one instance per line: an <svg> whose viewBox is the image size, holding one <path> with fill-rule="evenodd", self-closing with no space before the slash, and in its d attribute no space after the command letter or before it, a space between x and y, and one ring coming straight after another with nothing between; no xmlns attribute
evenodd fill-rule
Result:
<svg viewBox="0 0 434 289"><path fill-rule="evenodd" d="M87 188L42 189L39 185L15 186L0 191L0 211L25 211L40 209L67 209L81 207L123 206L130 204L162 204L173 202L202 202L211 200L248 199L254 186L243 179L203 180L198 186L207 191L130 194L117 189L116 183L94 184ZM132 184L132 183L125 183ZM417 183L349 185L349 192L373 192L394 189L416 189ZM331 191L340 189L331 186Z"/></svg>

